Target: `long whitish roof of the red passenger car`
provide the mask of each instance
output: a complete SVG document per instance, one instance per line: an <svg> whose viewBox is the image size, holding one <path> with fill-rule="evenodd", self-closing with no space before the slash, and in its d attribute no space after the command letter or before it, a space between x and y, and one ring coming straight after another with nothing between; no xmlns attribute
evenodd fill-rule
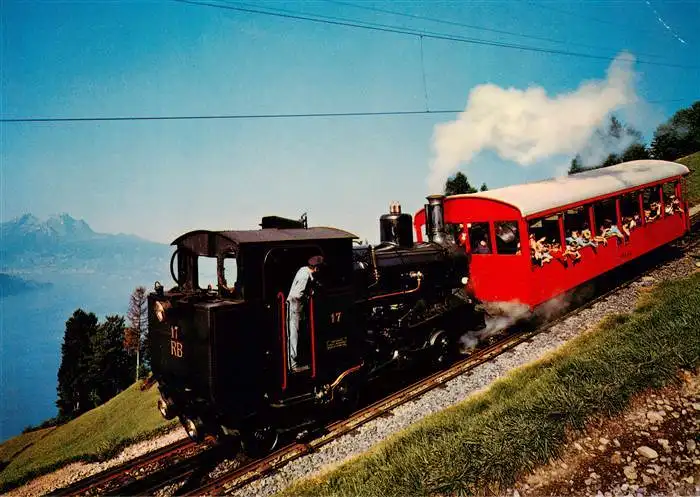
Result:
<svg viewBox="0 0 700 497"><path fill-rule="evenodd" d="M688 174L687 167L662 160L637 160L534 183L507 186L449 199L481 198L509 204L523 217L604 197Z"/></svg>

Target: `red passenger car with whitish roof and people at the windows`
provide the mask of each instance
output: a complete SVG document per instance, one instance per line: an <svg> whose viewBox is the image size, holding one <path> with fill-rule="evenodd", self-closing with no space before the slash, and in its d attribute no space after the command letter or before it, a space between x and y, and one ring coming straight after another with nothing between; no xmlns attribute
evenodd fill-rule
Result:
<svg viewBox="0 0 700 497"><path fill-rule="evenodd" d="M641 160L447 197L444 222L472 254L469 289L533 308L689 229L688 168ZM423 240L425 211L414 218Z"/></svg>

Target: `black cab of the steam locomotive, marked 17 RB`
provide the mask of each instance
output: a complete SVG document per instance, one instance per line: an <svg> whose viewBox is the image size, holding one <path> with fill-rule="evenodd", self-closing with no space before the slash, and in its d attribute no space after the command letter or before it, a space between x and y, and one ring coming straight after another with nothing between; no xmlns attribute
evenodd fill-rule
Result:
<svg viewBox="0 0 700 497"><path fill-rule="evenodd" d="M269 426L303 423L304 410L289 416L289 407L330 400L338 379L361 362L352 333L353 238L333 228L264 227L176 239L176 286L157 286L149 295L161 413L180 416L192 438L221 431L259 436ZM292 371L287 297L313 256L325 262L301 312L302 367Z"/></svg>

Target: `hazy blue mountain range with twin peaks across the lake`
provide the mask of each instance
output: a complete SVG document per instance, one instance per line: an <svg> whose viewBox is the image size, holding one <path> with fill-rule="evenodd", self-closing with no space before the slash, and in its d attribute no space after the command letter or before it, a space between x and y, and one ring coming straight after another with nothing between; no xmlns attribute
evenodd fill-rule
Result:
<svg viewBox="0 0 700 497"><path fill-rule="evenodd" d="M41 221L32 214L0 224L0 270L117 269L162 264L167 245L134 235L96 233L82 219L68 214Z"/></svg>

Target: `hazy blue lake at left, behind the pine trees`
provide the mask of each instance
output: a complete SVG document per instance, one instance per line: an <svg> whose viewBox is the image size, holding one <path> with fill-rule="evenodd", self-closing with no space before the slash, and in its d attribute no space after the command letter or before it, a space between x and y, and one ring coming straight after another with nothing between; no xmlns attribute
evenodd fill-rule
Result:
<svg viewBox="0 0 700 497"><path fill-rule="evenodd" d="M94 312L100 321L109 314L125 316L135 287L150 291L155 280L171 286L167 260L157 268L163 270L138 275L51 270L19 275L53 286L0 299L0 441L57 414L61 343L73 311Z"/></svg>

